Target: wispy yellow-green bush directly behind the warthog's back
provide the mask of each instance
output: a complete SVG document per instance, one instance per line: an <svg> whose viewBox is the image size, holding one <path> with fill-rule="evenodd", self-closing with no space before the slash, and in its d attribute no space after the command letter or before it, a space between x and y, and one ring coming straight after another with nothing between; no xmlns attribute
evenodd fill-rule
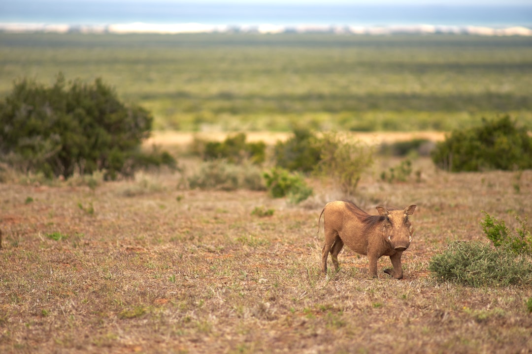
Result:
<svg viewBox="0 0 532 354"><path fill-rule="evenodd" d="M320 160L315 174L334 180L340 190L353 195L364 170L373 163L373 153L368 146L350 140L348 136L325 133L316 142Z"/></svg>

